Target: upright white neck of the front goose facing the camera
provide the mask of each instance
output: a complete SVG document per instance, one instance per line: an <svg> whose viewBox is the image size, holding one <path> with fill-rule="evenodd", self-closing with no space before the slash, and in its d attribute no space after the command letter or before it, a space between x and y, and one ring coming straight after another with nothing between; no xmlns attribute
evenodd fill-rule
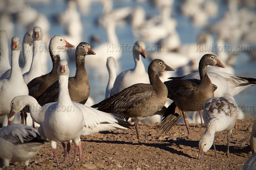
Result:
<svg viewBox="0 0 256 170"><path fill-rule="evenodd" d="M59 93L58 93L57 105L72 106L73 103L70 99L70 95L68 92L68 76L67 75L59 76L58 83L59 83Z"/></svg>

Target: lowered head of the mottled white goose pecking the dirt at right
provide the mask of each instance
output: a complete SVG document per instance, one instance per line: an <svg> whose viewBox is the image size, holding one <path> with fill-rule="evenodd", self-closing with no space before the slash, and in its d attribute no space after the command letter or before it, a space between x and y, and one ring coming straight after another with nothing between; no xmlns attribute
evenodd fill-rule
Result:
<svg viewBox="0 0 256 170"><path fill-rule="evenodd" d="M204 154L212 147L214 140L213 138L207 134L204 134L199 140L199 154L198 159L203 158Z"/></svg>

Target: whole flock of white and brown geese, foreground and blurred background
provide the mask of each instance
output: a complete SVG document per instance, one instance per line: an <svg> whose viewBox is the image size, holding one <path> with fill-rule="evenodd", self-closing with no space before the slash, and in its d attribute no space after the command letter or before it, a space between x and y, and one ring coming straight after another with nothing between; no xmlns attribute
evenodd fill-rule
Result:
<svg viewBox="0 0 256 170"><path fill-rule="evenodd" d="M102 37L97 35L90 40L88 38L90 44L83 42L82 34L86 31L80 16L83 9L79 0L68 1L67 9L52 17L66 31L66 34L54 36L49 35L49 22L43 14L29 6L6 6L6 15L0 13L0 30L3 29L0 31L0 118L7 117L8 121L3 119L0 124L0 166L4 165L8 169L10 161L25 161L26 169L29 160L49 142L56 164L62 169L56 147L56 143L61 142L64 161L69 161L73 143L74 159L71 167L74 168L77 167L78 153L79 162L86 159L82 153L81 136L116 129L131 130L134 126L137 140L141 142L138 128L140 120L144 123L160 122L159 130L168 135L183 117L188 131L186 139L191 139L193 136L189 130L189 112L197 111L201 127L206 127L198 141L197 158L202 159L212 145L218 158L215 133L222 131L227 131L226 155L232 156L229 151L231 134L233 127L239 128L237 119L239 115L243 115L234 96L255 86L256 78L234 75L233 55L237 59L239 53L197 51L198 44L207 46L214 43L210 33L201 33L198 44L182 44L177 31L178 22L171 16L174 1L155 1L159 14L148 18L142 7L116 9L113 8L112 0L100 0L103 12L97 23L99 27L105 28L100 34L105 32L107 41L101 42ZM88 1L83 4L83 8L89 11L92 4L93 2ZM225 24L227 18L236 15L244 17L244 13L255 14L246 12L245 9L239 10L236 5L236 0L229 0L229 11L219 21L225 31L229 31L232 25L230 22ZM6 23L12 23L6 17L13 14L11 7L17 10L17 22L26 26L26 31L23 33L22 43L15 36L9 46L8 36L14 30L11 29L12 26L10 29L2 28L1 22L5 20ZM185 17L191 17L195 27L204 27L209 18L218 14L218 4L212 0L204 3L185 0L180 12ZM89 15L90 12L84 12L85 14ZM230 38L234 30L230 31L230 37L215 26L209 31L218 34L218 45L225 42L234 45L244 37L247 37L243 40L244 43L251 43L253 40L248 38L249 32L255 27L256 20L250 17L247 21L234 20L232 26L241 26L242 22L250 24L247 30L244 28L241 29L242 33L237 33L244 36L236 36L236 40ZM134 36L135 43L128 46L132 47L129 51L116 50L124 45L122 42L125 40L117 34L120 31L116 31L124 23L131 24ZM219 26L219 23L216 25ZM125 31L123 33L126 34ZM96 45L91 46L92 43ZM148 44L160 45L161 48L158 51L148 51ZM134 67L122 63L125 54L130 56L125 61L132 60L133 56L134 62L131 63ZM248 52L247 55L251 54ZM52 66L49 64L50 60ZM149 65L146 65L147 61ZM108 79L108 83L102 83L102 76L103 79ZM100 96L96 104L90 103L95 98L91 89L99 85L104 86L105 97L96 94L97 97ZM20 119L17 121L18 116ZM129 118L133 119L133 125ZM27 119L32 119L33 127L27 125ZM39 126L38 130L35 126ZM250 147L255 157L256 123L252 127Z"/></svg>

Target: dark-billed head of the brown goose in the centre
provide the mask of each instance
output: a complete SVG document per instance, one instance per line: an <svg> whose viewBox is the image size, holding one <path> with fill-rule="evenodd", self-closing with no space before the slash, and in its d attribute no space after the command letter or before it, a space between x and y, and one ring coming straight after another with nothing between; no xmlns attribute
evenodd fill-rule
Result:
<svg viewBox="0 0 256 170"><path fill-rule="evenodd" d="M156 73L163 71L174 71L174 69L167 65L162 59L154 59L148 66L148 70L149 69L152 69Z"/></svg>

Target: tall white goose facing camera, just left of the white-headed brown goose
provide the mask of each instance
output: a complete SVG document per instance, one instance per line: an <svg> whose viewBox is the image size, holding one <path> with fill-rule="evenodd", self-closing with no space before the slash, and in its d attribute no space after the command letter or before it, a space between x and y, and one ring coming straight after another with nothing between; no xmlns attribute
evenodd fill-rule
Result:
<svg viewBox="0 0 256 170"><path fill-rule="evenodd" d="M33 29L33 59L31 63L31 67L28 72L23 74L23 79L28 84L35 77L39 77L43 75L42 65L41 65L41 49L42 49L42 38L43 32L42 29L38 26Z"/></svg>

